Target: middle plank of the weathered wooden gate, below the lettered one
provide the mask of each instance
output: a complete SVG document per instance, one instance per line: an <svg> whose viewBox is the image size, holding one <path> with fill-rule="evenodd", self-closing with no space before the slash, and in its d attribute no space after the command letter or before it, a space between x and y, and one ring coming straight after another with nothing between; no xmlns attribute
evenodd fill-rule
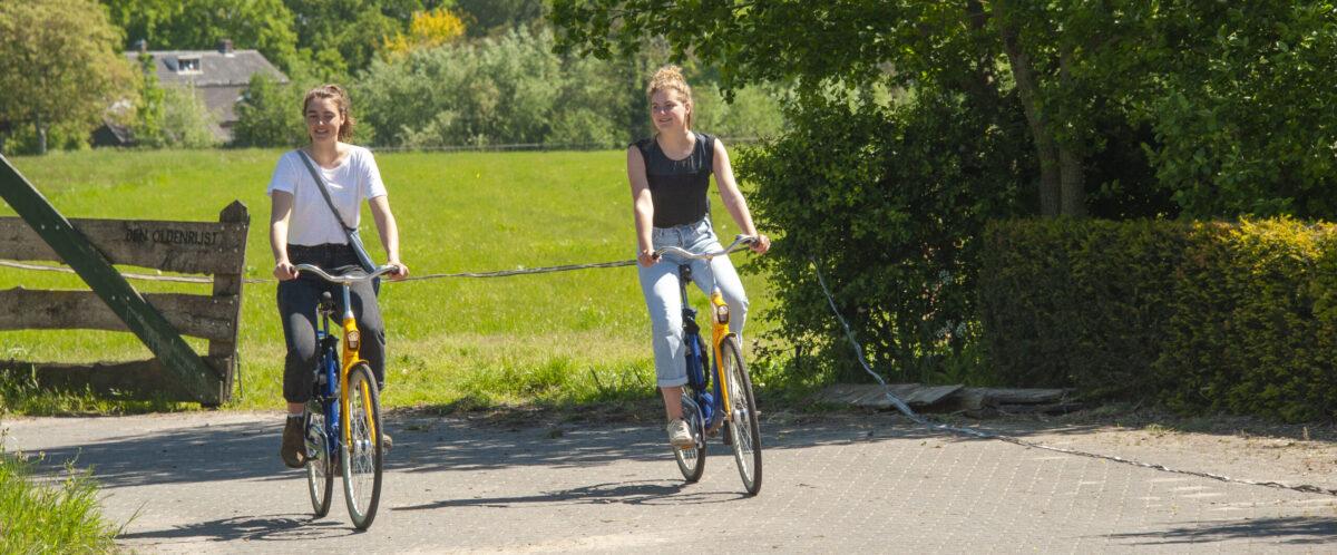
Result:
<svg viewBox="0 0 1337 555"><path fill-rule="evenodd" d="M147 293L143 296L180 334L211 341L237 338L235 296ZM130 332L94 292L13 288L0 290L0 330L104 329Z"/></svg>

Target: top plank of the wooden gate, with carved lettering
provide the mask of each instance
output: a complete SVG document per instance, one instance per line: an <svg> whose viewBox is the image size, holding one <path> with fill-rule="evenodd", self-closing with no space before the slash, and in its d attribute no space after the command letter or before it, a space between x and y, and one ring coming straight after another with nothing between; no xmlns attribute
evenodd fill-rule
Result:
<svg viewBox="0 0 1337 555"><path fill-rule="evenodd" d="M246 249L247 223L84 218L72 218L70 223L111 263L166 271L229 271L233 259ZM0 258L64 262L39 231L23 218L0 218Z"/></svg>

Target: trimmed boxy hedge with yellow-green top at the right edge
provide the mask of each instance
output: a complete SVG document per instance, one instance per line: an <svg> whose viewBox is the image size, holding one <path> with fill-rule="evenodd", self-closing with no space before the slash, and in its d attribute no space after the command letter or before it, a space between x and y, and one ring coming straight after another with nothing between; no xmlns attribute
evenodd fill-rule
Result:
<svg viewBox="0 0 1337 555"><path fill-rule="evenodd" d="M1092 219L985 227L984 352L1008 384L1185 412L1337 415L1334 227Z"/></svg>

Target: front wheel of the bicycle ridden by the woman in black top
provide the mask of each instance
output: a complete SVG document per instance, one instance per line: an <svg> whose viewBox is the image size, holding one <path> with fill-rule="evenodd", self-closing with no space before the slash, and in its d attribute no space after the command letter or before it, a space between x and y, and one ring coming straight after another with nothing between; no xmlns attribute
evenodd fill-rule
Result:
<svg viewBox="0 0 1337 555"><path fill-rule="evenodd" d="M757 421L757 399L753 397L751 378L747 377L738 341L733 337L719 342L719 364L729 385L729 428L738 475L743 479L747 495L757 495L761 491L761 424Z"/></svg>

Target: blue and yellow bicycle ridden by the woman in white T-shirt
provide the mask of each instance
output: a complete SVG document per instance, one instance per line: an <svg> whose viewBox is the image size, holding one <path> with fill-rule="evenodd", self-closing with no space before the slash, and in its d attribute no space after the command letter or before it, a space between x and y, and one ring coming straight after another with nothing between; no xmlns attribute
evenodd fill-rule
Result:
<svg viewBox="0 0 1337 555"><path fill-rule="evenodd" d="M316 366L312 399L306 404L306 485L312 493L312 508L317 518L329 514L334 475L342 475L348 514L353 526L366 530L376 519L381 502L384 424L376 376L358 357L361 333L349 302L348 284L372 281L394 271L394 267L381 266L368 275L330 275L309 263L297 265L297 270L340 284L344 300L340 325L344 330L342 356L340 337L330 333L330 320L338 312L334 297L324 293L317 308L321 328L316 330L316 340L321 360Z"/></svg>

